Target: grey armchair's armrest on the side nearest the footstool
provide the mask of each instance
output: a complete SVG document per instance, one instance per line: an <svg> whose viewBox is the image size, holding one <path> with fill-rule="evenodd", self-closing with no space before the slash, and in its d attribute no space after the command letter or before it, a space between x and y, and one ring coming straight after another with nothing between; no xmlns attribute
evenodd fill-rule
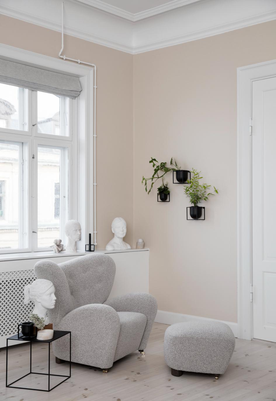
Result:
<svg viewBox="0 0 276 401"><path fill-rule="evenodd" d="M139 349L144 350L157 313L156 299L145 292L135 292L111 298L104 304L111 306L116 312L138 312L146 315L147 324L139 347Z"/></svg>

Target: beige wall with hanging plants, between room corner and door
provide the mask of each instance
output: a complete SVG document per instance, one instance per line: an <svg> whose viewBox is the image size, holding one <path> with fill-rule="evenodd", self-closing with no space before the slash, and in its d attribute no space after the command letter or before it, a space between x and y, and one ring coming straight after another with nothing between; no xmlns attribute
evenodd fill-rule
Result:
<svg viewBox="0 0 276 401"><path fill-rule="evenodd" d="M276 58L276 21L134 56L134 238L150 248L158 309L237 321L236 69ZM205 221L188 199L144 191L150 157L202 171L219 188Z"/></svg>

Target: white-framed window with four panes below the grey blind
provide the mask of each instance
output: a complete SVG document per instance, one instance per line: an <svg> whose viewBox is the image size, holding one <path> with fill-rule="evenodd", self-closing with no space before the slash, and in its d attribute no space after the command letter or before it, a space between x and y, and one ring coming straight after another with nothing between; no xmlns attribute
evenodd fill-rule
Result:
<svg viewBox="0 0 276 401"><path fill-rule="evenodd" d="M0 83L0 253L65 240L73 102Z"/></svg>

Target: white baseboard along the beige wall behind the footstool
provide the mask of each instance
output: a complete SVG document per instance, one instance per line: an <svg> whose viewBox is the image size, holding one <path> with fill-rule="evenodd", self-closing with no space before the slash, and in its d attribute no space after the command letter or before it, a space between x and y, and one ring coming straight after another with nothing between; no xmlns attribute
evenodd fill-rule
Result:
<svg viewBox="0 0 276 401"><path fill-rule="evenodd" d="M212 320L212 322L222 322L228 324L235 337L238 337L238 323L224 322L224 320L201 318L200 316L183 315L181 313L166 312L165 310L158 310L155 318L156 323L174 324L188 321L203 322L204 320Z"/></svg>

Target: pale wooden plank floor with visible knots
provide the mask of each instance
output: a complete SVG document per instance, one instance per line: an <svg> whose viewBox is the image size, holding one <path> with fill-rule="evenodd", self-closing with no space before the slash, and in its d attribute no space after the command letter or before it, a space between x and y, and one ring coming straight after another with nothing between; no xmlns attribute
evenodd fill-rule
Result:
<svg viewBox="0 0 276 401"><path fill-rule="evenodd" d="M6 350L0 350L0 400L12 401L276 401L276 344L254 340L237 340L230 365L219 380L212 375L184 373L173 377L164 363L163 338L165 324L155 323L146 348L146 356L133 354L114 363L108 373L96 368L72 364L72 377L50 393L6 389ZM85 344L84 344L85 346ZM48 346L47 346L48 347ZM33 369L47 372L46 344L33 346ZM29 345L9 349L10 381L28 371ZM24 370L24 367L26 368ZM51 355L51 373L66 374L68 364L56 365ZM30 376L24 384L42 386L47 376ZM38 384L39 383L39 384ZM52 382L54 383L54 381ZM26 386L27 387L27 386ZM45 388L45 387L44 387Z"/></svg>

